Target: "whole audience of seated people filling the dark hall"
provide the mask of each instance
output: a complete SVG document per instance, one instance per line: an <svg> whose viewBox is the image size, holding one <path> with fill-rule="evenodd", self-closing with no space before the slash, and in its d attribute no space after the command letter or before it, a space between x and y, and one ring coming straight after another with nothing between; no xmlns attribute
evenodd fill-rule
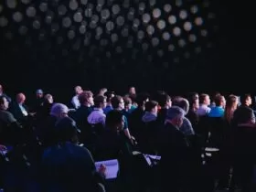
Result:
<svg viewBox="0 0 256 192"><path fill-rule="evenodd" d="M42 90L27 102L25 93L11 98L0 86L5 192L255 191L250 94L75 92L68 104ZM106 165L95 162L112 159L119 171L107 179Z"/></svg>

